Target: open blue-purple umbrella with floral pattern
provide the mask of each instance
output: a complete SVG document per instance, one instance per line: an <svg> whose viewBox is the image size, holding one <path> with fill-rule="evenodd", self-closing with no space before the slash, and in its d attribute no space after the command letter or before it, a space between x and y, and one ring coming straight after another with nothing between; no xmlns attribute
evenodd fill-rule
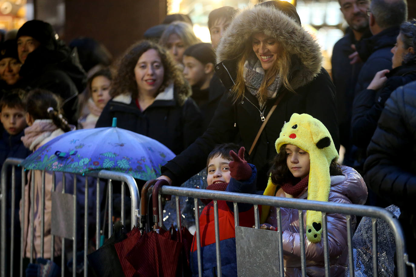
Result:
<svg viewBox="0 0 416 277"><path fill-rule="evenodd" d="M147 181L160 176L161 166L173 157L175 154L157 140L118 127L103 127L64 133L30 154L22 166L78 174L106 169Z"/></svg>

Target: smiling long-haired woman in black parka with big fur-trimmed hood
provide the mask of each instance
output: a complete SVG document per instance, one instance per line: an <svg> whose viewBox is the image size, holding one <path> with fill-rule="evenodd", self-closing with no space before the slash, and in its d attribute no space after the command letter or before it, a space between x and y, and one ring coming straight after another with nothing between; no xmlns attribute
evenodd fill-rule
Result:
<svg viewBox="0 0 416 277"><path fill-rule="evenodd" d="M162 168L165 179L181 184L203 168L215 144L241 140L249 150L277 99L250 153L259 172L259 190L267 184L273 142L293 113L319 119L339 149L334 85L321 66L318 44L301 27L293 5L269 1L241 11L223 34L216 54L215 70L227 93L208 130Z"/></svg>

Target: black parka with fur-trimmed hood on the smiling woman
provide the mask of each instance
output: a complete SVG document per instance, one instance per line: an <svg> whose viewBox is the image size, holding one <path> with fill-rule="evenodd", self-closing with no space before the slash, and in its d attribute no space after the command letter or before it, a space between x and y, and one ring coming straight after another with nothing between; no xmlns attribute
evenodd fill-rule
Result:
<svg viewBox="0 0 416 277"><path fill-rule="evenodd" d="M253 27L250 22L256 22L257 25ZM291 40L283 42L273 26L280 26L279 32L296 34L290 36ZM278 94L284 93L284 96L250 154L250 162L258 169L257 189L260 190L265 189L269 162L276 155L275 141L283 124L289 121L293 113L308 113L321 120L331 133L337 149L339 134L335 88L328 73L320 66L322 56L319 46L310 34L274 8L256 6L244 11L235 17L225 32L217 48L217 59L221 59L222 62L216 65L216 72L227 91L233 86L236 76L236 60L230 57L241 53L240 48L245 47L247 39L255 32L277 37L279 43L282 43L281 47L290 49L290 84L295 90L293 93L282 86ZM276 99L267 100L264 116L267 116L275 101ZM261 125L259 103L255 96L246 90L244 99L234 103L230 94L225 93L208 130L162 167L162 174L170 177L173 184L180 185L206 166L206 158L216 144L233 142L238 136L248 152Z"/></svg>

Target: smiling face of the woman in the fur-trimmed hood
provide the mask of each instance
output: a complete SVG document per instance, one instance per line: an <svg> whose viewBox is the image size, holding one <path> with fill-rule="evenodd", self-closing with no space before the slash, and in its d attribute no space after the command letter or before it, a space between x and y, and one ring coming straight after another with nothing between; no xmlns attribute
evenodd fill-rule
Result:
<svg viewBox="0 0 416 277"><path fill-rule="evenodd" d="M267 37L263 33L255 33L252 37L253 51L264 70L268 70L277 61L279 44L276 39Z"/></svg>

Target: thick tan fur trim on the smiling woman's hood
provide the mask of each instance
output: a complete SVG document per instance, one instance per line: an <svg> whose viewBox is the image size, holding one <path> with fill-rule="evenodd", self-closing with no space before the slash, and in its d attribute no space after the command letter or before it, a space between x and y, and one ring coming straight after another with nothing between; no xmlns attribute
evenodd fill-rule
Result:
<svg viewBox="0 0 416 277"><path fill-rule="evenodd" d="M217 47L217 63L238 60L248 39L257 32L277 39L279 45L289 52L292 57L290 85L293 89L309 83L320 72L322 54L315 39L285 13L261 5L243 10L233 19Z"/></svg>

